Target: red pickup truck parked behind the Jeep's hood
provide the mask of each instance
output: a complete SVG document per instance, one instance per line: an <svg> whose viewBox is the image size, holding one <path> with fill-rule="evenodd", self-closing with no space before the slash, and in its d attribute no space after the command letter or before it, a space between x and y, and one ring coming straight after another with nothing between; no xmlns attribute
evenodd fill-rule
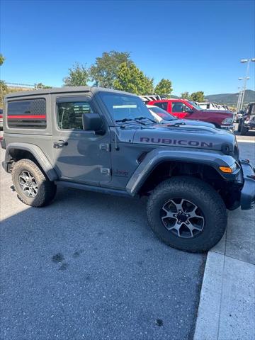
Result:
<svg viewBox="0 0 255 340"><path fill-rule="evenodd" d="M234 115L230 111L203 110L192 101L186 99L163 99L149 101L149 105L159 106L164 111L175 115L177 118L203 120L212 123L216 128L232 128Z"/></svg>

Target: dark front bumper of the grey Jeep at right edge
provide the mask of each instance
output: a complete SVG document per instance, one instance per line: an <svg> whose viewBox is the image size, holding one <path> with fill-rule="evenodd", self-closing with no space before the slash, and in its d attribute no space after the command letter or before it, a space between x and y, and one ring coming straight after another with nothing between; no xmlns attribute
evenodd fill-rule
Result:
<svg viewBox="0 0 255 340"><path fill-rule="evenodd" d="M241 209L248 210L255 207L255 169L249 161L240 161L244 176L244 186L241 191Z"/></svg>

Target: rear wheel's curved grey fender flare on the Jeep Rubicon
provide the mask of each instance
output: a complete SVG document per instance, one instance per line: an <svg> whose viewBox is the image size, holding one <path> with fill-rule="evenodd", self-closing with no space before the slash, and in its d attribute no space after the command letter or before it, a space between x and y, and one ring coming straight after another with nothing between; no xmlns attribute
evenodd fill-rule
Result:
<svg viewBox="0 0 255 340"><path fill-rule="evenodd" d="M34 144L29 144L29 143L10 143L6 147L5 164L10 162L10 152L12 149L25 150L33 154L33 157L35 157L37 162L42 167L43 171L45 171L47 178L50 181L58 180L57 172L53 168L49 159L47 159L45 154L42 152L42 149L40 149L40 147Z"/></svg>

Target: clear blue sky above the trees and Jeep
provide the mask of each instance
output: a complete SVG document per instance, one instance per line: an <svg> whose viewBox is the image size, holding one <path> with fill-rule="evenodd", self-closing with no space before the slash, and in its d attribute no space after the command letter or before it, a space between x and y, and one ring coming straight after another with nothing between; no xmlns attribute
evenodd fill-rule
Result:
<svg viewBox="0 0 255 340"><path fill-rule="evenodd" d="M62 86L74 62L131 52L173 94L237 92L255 57L254 1L1 1L1 79ZM254 89L254 63L248 88Z"/></svg>

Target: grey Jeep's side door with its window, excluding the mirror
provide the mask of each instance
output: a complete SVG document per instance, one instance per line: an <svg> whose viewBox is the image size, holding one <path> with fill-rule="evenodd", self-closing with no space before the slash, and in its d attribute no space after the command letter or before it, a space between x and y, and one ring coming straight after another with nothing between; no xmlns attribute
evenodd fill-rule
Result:
<svg viewBox="0 0 255 340"><path fill-rule="evenodd" d="M110 131L84 131L82 115L96 113L89 96L56 96L53 158L60 179L98 185L111 181ZM98 112L97 112L98 113Z"/></svg>

